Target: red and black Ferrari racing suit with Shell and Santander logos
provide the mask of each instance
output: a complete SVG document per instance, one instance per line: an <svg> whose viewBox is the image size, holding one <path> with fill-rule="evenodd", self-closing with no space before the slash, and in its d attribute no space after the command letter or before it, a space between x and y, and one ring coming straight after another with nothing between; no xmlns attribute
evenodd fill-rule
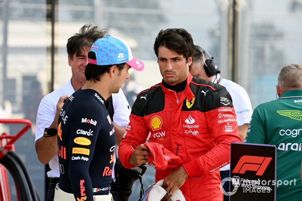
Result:
<svg viewBox="0 0 302 201"><path fill-rule="evenodd" d="M189 74L179 98L163 83L138 94L118 155L126 168L133 168L129 158L138 145L146 139L162 144L182 164L156 170L156 182L184 166L189 177L180 190L187 201L221 201L219 168L230 162L230 143L241 142L237 127L225 87Z"/></svg>

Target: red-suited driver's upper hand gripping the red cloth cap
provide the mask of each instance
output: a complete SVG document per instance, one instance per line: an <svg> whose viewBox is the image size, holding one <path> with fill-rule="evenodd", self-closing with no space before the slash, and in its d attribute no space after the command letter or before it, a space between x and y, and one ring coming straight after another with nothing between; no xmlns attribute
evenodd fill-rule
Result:
<svg viewBox="0 0 302 201"><path fill-rule="evenodd" d="M147 162L147 155L151 155L150 150L144 144L140 144L130 155L129 163L131 165L140 166Z"/></svg>

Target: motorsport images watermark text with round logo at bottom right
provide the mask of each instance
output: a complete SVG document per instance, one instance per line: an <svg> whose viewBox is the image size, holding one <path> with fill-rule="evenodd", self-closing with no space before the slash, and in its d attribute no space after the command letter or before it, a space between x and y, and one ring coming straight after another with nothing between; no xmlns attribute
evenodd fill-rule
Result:
<svg viewBox="0 0 302 201"><path fill-rule="evenodd" d="M227 192L224 188L223 185L226 182L230 182L233 186L233 190L230 189L230 192ZM270 186L275 186L277 185L277 188L280 185L288 186L288 185L296 185L297 180L249 180L249 179L244 179L240 178L238 176L234 177L226 177L224 178L221 183L220 183L220 190L224 195L234 195L239 187L243 188L243 193L270 193L271 192L271 187Z"/></svg>

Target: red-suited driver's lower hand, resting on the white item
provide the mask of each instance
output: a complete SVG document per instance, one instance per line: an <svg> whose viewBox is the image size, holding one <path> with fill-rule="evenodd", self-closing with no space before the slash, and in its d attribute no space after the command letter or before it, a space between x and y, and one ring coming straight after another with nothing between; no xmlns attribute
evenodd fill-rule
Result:
<svg viewBox="0 0 302 201"><path fill-rule="evenodd" d="M163 187L166 188L167 194L171 197L175 190L181 187L186 179L188 178L188 173L185 171L185 168L182 166L176 171L171 172L164 180Z"/></svg>

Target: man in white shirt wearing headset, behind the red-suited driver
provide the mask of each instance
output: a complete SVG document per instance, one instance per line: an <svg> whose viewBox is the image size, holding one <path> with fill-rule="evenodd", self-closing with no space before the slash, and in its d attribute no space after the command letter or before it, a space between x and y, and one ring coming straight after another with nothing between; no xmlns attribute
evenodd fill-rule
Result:
<svg viewBox="0 0 302 201"><path fill-rule="evenodd" d="M224 79L220 76L217 64L214 58L211 57L200 46L194 46L195 51L192 56L192 64L189 66L189 71L193 77L202 78L204 80L212 81L220 84L226 88L233 100L233 106L237 115L236 121L238 123L238 130L241 141L244 142L246 132L248 130L249 121L252 116L252 104L246 90L239 84ZM226 103L227 104L227 103ZM223 112L219 118L224 118ZM220 177L223 180L230 176L230 165L220 168ZM225 182L223 188L229 191L229 182ZM226 193L224 193L226 194ZM224 195L224 200L229 200L228 196Z"/></svg>

